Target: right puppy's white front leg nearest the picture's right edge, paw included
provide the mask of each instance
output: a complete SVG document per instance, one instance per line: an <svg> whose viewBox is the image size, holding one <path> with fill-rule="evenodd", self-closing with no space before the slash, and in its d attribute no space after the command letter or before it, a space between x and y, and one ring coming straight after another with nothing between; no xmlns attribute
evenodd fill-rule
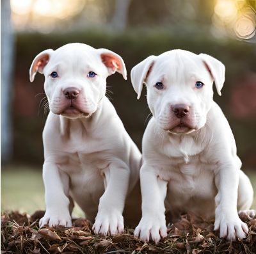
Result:
<svg viewBox="0 0 256 254"><path fill-rule="evenodd" d="M230 158L229 163L222 163L215 176L218 194L215 197L214 230L220 230L220 237L228 241L243 239L248 233L248 226L239 219L237 213L237 191L239 168Z"/></svg>

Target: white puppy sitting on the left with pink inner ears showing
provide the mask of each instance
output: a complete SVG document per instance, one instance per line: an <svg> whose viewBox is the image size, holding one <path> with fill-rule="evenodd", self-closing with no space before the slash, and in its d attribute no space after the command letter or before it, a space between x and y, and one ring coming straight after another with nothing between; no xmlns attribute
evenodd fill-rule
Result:
<svg viewBox="0 0 256 254"><path fill-rule="evenodd" d="M140 200L132 192L138 187L141 153L105 93L108 75L117 71L127 79L124 61L107 49L67 44L36 56L31 82L36 71L45 75L50 109L43 133L46 212L40 226L71 226L74 199L86 218L95 220L95 234L122 233L125 197ZM127 207L136 216L140 205L134 203ZM136 218L128 218L132 222Z"/></svg>

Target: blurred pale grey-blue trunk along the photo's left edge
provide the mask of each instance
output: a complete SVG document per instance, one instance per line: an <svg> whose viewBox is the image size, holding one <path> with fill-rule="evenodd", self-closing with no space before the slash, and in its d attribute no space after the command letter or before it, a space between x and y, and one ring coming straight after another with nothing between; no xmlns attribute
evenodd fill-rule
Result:
<svg viewBox="0 0 256 254"><path fill-rule="evenodd" d="M12 159L12 75L14 36L10 0L1 1L1 162Z"/></svg>

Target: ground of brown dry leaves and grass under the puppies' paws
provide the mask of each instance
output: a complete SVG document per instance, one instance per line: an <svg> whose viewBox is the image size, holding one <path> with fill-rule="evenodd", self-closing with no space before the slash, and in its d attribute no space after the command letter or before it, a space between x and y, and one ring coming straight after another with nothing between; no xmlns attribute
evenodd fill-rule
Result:
<svg viewBox="0 0 256 254"><path fill-rule="evenodd" d="M168 237L154 242L141 242L133 228L113 237L93 235L86 219L76 219L72 228L38 228L43 211L32 216L11 212L1 214L1 254L3 253L256 253L256 219L242 218L250 228L244 240L228 242L213 231L214 221L193 214L181 216L168 226Z"/></svg>

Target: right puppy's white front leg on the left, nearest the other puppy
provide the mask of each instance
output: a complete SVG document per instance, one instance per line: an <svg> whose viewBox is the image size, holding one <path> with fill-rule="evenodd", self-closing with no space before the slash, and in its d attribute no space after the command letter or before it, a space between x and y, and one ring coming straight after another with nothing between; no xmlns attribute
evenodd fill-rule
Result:
<svg viewBox="0 0 256 254"><path fill-rule="evenodd" d="M167 182L160 179L153 166L143 164L140 171L142 218L134 235L146 242L150 239L159 242L167 236L164 199Z"/></svg>

